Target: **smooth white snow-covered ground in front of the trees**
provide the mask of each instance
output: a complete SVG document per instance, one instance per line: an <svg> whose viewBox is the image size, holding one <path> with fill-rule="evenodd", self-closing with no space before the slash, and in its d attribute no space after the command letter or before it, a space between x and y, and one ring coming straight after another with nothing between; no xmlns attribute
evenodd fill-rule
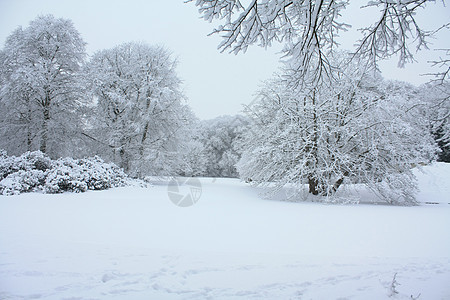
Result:
<svg viewBox="0 0 450 300"><path fill-rule="evenodd" d="M450 165L424 170L416 207L209 178L187 208L165 184L0 196L0 299L450 299Z"/></svg>

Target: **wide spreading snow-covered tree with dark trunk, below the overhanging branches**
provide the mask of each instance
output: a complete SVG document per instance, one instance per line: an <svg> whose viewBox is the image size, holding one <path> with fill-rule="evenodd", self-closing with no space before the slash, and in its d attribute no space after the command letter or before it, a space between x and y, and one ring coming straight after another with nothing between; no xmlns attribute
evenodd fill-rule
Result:
<svg viewBox="0 0 450 300"><path fill-rule="evenodd" d="M340 70L333 84L320 87L293 89L281 77L267 83L250 110L241 177L299 191L307 184L309 193L325 196L359 182L389 203L413 204L411 168L436 150L427 119L416 111L415 89L355 65Z"/></svg>

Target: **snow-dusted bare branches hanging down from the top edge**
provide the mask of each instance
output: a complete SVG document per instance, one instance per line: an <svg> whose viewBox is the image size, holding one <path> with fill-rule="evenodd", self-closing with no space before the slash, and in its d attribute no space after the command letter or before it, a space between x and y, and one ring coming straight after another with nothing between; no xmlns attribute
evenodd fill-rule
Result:
<svg viewBox="0 0 450 300"><path fill-rule="evenodd" d="M202 18L218 20L213 33L222 36L222 51L245 52L248 46L284 44L290 67L296 75L315 65L317 81L330 76L332 52L338 46L339 33L351 24L340 20L348 0L190 0ZM428 47L432 32L423 30L415 13L434 0L368 1L361 9L377 15L373 24L360 29L354 57L376 65L377 60L398 55L399 65L413 61L412 48ZM448 25L448 24L447 24ZM448 29L443 26L441 29Z"/></svg>

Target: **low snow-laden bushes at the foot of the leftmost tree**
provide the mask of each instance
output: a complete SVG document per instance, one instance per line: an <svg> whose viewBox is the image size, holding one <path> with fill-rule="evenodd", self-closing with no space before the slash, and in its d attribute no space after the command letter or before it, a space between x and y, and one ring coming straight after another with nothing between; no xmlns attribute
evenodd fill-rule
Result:
<svg viewBox="0 0 450 300"><path fill-rule="evenodd" d="M127 176L99 157L51 160L40 151L20 157L0 153L0 194L85 192L125 185Z"/></svg>

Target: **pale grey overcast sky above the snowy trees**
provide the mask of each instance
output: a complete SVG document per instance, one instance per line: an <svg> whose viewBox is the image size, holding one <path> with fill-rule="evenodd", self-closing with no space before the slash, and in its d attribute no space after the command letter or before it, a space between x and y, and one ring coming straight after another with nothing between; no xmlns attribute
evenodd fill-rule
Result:
<svg viewBox="0 0 450 300"><path fill-rule="evenodd" d="M256 46L237 56L219 53L218 36L207 36L213 26L201 19L193 3L183 0L0 0L0 45L18 26L26 27L40 14L71 19L87 42L89 54L114 47L123 42L143 41L163 45L179 61L178 74L184 92L196 115L201 119L242 111L243 104L253 99L261 80L268 79L280 66L279 46L264 50ZM352 3L358 3L353 1ZM361 1L361 4L367 1ZM426 29L450 22L450 10L440 1L420 13ZM369 16L354 8L344 15L346 21L358 26ZM355 27L355 26L354 26ZM352 40L355 32L346 38ZM449 32L434 41L439 48L450 48ZM344 42L345 44L345 42ZM349 43L348 46L351 46ZM420 63L398 69L393 61L382 64L383 76L421 84L429 72L426 61L437 52L417 56Z"/></svg>

